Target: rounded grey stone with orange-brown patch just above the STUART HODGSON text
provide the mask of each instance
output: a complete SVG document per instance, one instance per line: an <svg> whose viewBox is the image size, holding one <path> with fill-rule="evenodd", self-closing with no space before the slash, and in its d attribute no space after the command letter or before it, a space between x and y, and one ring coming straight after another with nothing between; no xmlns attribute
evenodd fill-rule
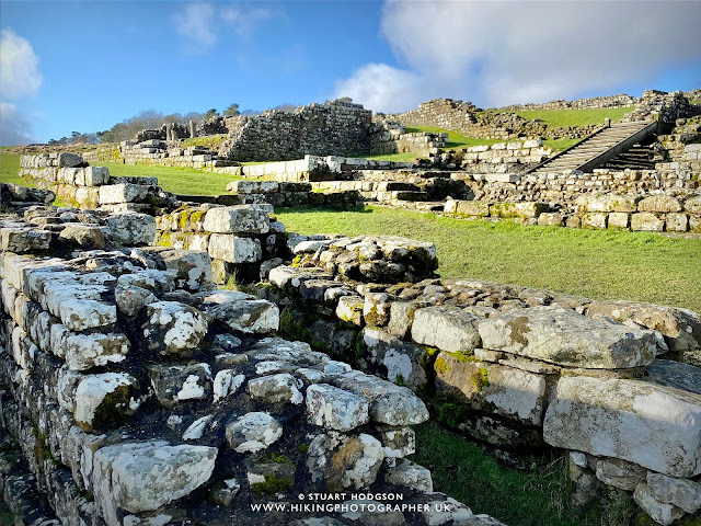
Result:
<svg viewBox="0 0 701 526"><path fill-rule="evenodd" d="M377 479L384 453L380 442L366 434L357 436L331 432L317 435L309 445L307 468L320 490L356 490Z"/></svg>

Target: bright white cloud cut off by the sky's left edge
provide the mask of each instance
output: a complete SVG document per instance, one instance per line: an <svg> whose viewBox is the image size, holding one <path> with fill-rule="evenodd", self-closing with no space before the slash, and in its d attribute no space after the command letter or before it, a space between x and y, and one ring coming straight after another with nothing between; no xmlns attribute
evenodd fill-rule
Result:
<svg viewBox="0 0 701 526"><path fill-rule="evenodd" d="M35 95L44 81L38 65L39 58L26 38L11 28L0 32L0 90L3 98Z"/></svg>

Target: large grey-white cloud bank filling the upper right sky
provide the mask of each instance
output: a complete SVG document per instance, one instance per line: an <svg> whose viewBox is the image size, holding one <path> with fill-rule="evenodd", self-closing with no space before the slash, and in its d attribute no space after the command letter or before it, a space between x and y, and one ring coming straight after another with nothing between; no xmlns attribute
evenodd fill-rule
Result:
<svg viewBox="0 0 701 526"><path fill-rule="evenodd" d="M381 26L405 65L397 71L420 79L409 88L418 100L503 105L651 82L666 68L688 67L701 59L699 20L701 2L388 1ZM356 87L354 99L372 110L395 106L399 73L372 79L365 72L361 67L336 85ZM361 81L388 89L360 89Z"/></svg>

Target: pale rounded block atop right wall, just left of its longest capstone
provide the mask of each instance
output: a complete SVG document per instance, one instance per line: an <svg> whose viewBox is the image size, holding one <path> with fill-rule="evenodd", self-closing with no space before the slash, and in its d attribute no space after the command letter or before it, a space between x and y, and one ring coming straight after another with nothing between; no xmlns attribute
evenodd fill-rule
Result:
<svg viewBox="0 0 701 526"><path fill-rule="evenodd" d="M470 353L481 343L480 320L458 307L426 307L414 312L412 339L441 351Z"/></svg>

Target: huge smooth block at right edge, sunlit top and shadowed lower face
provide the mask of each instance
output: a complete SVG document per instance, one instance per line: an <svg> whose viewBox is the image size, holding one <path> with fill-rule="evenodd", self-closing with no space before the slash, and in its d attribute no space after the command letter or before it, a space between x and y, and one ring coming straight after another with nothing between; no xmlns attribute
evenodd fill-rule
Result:
<svg viewBox="0 0 701 526"><path fill-rule="evenodd" d="M545 412L543 437L555 447L689 478L701 473L699 422L696 393L643 380L563 377Z"/></svg>

